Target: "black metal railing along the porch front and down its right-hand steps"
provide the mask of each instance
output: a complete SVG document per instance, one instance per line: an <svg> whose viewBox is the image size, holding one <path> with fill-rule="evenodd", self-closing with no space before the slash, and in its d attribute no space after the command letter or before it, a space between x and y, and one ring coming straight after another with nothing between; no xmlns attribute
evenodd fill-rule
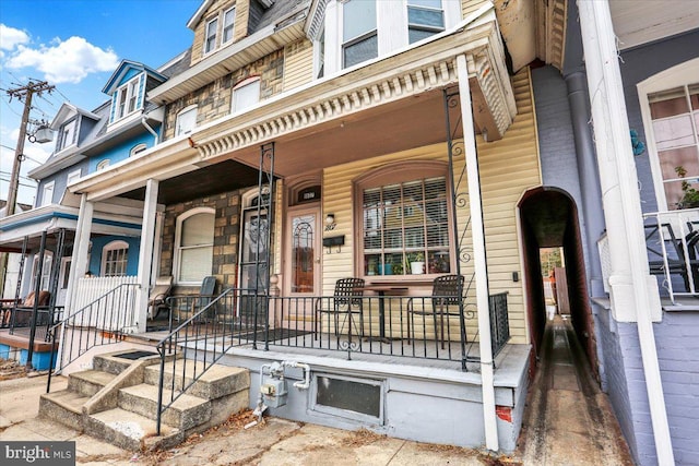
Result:
<svg viewBox="0 0 699 466"><path fill-rule="evenodd" d="M189 297L188 302L200 298ZM365 354L458 361L463 369L467 361L479 360L473 303L436 309L440 297L435 296L365 295L336 302L327 296L264 296L234 288L206 298L157 344L158 433L165 410L234 347L342 351L347 359ZM348 301L354 306L345 306ZM497 354L509 340L507 292L493 295L489 302Z"/></svg>

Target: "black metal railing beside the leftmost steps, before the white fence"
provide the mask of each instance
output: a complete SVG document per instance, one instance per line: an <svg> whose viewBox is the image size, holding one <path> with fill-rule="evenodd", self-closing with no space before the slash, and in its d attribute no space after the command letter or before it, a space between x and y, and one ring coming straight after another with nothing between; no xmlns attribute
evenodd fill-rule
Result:
<svg viewBox="0 0 699 466"><path fill-rule="evenodd" d="M51 345L47 393L54 371L60 371L96 346L123 340L125 328L134 325L138 288L138 284L119 285L48 328L49 340L61 342L61 345L58 359L55 359L56 345Z"/></svg>

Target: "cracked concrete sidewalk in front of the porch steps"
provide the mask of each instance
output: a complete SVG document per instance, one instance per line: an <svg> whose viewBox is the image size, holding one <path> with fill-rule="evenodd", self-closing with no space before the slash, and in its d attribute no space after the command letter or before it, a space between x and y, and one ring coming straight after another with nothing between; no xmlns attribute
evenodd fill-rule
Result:
<svg viewBox="0 0 699 466"><path fill-rule="evenodd" d="M51 381L62 390L66 378ZM38 418L46 377L0 382L0 441L75 442L79 465L499 465L483 452L410 442L367 430L350 432L279 418L245 430L250 419L232 417L225 425L193 435L166 452L134 454L48 419Z"/></svg>

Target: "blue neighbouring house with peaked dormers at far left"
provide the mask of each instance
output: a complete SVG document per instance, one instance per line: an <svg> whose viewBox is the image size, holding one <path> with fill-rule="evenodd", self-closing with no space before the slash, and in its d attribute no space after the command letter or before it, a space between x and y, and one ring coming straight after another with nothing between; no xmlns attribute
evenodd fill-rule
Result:
<svg viewBox="0 0 699 466"><path fill-rule="evenodd" d="M47 290L51 297L48 312L63 308L80 210L80 198L68 186L157 144L163 110L149 104L145 93L164 81L157 71L123 61L104 88L110 101L93 111L61 106L50 124L58 134L55 151L29 172L38 181L35 205L0 218L0 250L13 252L16 262L4 278L7 299L21 303L36 289ZM107 200L95 203L94 208L95 226L84 238L91 252L84 258L83 275L90 271L93 276L111 277L111 284L135 275L142 202ZM13 325L9 318L2 321L10 333L26 331L15 332Z"/></svg>

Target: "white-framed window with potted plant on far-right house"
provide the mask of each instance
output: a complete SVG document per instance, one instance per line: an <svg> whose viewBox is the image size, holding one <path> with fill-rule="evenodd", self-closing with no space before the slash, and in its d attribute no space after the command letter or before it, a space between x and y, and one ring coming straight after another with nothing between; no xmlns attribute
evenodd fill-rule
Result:
<svg viewBox="0 0 699 466"><path fill-rule="evenodd" d="M698 207L699 59L638 85L659 208ZM694 198L694 199L692 199Z"/></svg>

